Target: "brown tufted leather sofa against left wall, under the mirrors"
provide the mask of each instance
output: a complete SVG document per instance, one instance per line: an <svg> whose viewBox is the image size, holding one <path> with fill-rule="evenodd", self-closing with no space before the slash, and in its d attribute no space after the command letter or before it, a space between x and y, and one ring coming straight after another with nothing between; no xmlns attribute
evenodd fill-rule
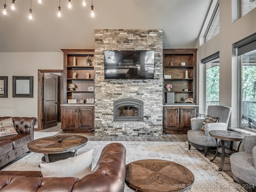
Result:
<svg viewBox="0 0 256 192"><path fill-rule="evenodd" d="M0 117L0 121L11 117ZM28 143L34 140L35 117L12 117L18 134L0 137L0 168L28 152Z"/></svg>

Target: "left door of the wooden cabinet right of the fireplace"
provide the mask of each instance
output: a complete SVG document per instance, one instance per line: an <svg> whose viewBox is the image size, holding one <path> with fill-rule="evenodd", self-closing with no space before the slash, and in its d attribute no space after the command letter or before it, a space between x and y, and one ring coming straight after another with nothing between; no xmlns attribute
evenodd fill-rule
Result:
<svg viewBox="0 0 256 192"><path fill-rule="evenodd" d="M165 107L164 108L164 129L177 130L179 129L179 108Z"/></svg>

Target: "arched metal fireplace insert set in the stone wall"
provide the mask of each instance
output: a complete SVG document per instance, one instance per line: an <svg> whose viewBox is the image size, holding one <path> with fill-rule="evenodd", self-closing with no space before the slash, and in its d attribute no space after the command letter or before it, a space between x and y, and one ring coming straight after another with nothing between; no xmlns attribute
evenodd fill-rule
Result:
<svg viewBox="0 0 256 192"><path fill-rule="evenodd" d="M143 121L143 101L132 98L114 101L114 121Z"/></svg>

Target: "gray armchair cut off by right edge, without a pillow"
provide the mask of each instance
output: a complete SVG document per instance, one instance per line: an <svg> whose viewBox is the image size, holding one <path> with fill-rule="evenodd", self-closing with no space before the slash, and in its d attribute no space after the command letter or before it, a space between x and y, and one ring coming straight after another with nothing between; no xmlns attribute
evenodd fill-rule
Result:
<svg viewBox="0 0 256 192"><path fill-rule="evenodd" d="M256 135L244 137L244 152L230 155L230 165L234 180L248 191L256 191Z"/></svg>

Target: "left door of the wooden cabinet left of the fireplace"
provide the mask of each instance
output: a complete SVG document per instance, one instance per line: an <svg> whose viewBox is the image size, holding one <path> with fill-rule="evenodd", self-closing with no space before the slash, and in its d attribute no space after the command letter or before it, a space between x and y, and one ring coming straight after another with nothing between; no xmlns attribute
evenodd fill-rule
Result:
<svg viewBox="0 0 256 192"><path fill-rule="evenodd" d="M64 128L78 128L78 114L77 107L64 107L64 116L62 116L64 122Z"/></svg>

